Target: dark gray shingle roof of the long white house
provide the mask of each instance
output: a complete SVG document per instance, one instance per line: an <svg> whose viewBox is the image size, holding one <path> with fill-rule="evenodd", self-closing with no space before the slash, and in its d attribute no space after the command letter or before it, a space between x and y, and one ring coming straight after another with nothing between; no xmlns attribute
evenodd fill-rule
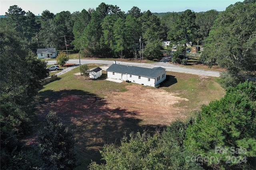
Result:
<svg viewBox="0 0 256 170"><path fill-rule="evenodd" d="M155 67L155 68L145 68L138 66L128 66L122 64L112 64L106 71L118 72L118 73L127 73L137 76L146 76L146 77L157 77L165 68Z"/></svg>

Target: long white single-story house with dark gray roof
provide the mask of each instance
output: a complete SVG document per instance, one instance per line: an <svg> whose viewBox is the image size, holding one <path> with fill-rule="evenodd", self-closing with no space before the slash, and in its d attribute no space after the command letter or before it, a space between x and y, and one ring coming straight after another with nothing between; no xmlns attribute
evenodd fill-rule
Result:
<svg viewBox="0 0 256 170"><path fill-rule="evenodd" d="M166 71L162 67L145 68L112 64L106 71L108 78L134 82L144 86L154 87L166 79Z"/></svg>

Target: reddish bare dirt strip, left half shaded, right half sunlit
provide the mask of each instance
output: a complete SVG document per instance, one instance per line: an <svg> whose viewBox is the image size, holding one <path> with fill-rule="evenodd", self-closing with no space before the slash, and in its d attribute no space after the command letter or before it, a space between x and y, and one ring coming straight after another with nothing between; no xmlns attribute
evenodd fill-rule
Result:
<svg viewBox="0 0 256 170"><path fill-rule="evenodd" d="M160 88L144 88L140 84L132 84L126 88L126 92L108 92L102 99L90 95L69 95L65 91L59 92L60 94L52 95L52 98L46 98L38 109L43 113L40 114L42 116L53 110L64 121L73 123L76 119L91 121L101 117L129 117L140 119L141 124L169 125L174 119L184 118L184 115L180 114L181 108L174 107L174 104L187 99Z"/></svg>

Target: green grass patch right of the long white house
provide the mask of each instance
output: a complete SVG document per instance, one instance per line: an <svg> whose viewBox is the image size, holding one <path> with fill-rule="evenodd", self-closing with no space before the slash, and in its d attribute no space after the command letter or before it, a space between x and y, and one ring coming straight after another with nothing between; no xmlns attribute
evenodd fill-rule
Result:
<svg viewBox="0 0 256 170"><path fill-rule="evenodd" d="M177 104L189 110L200 109L202 104L208 104L212 100L218 100L224 96L224 89L216 82L215 77L202 77L194 74L168 72L172 80L177 83L164 88L168 92L177 93L179 97L186 98Z"/></svg>

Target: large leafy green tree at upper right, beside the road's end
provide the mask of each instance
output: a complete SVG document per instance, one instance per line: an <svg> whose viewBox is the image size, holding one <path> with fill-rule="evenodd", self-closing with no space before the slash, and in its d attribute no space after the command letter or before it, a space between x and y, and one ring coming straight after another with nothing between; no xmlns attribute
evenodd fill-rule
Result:
<svg viewBox="0 0 256 170"><path fill-rule="evenodd" d="M256 3L237 2L221 12L206 39L200 61L227 69L223 86L236 86L256 70ZM245 75L246 76L246 75Z"/></svg>

